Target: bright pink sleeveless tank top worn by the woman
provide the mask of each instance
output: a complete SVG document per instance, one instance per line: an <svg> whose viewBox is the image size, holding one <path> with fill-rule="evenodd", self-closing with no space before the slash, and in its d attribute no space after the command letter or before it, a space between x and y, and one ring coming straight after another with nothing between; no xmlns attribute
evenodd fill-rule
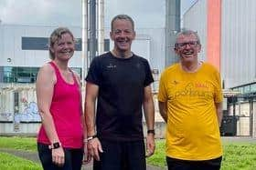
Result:
<svg viewBox="0 0 256 170"><path fill-rule="evenodd" d="M72 72L74 83L68 84L60 75L59 68L49 62L55 70L57 83L54 85L54 92L50 105L50 113L63 147L81 148L83 140L81 123L81 98L80 89L75 75ZM37 135L37 142L49 145L46 131L41 125Z"/></svg>

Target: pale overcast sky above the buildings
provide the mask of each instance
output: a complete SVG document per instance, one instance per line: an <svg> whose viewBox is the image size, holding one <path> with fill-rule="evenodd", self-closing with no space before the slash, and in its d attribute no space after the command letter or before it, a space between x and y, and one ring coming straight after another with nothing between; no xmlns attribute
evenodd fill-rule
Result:
<svg viewBox="0 0 256 170"><path fill-rule="evenodd" d="M182 12L195 0L181 0ZM114 15L131 15L137 27L164 27L165 0L104 0L105 26ZM0 0L2 24L81 25L81 0Z"/></svg>

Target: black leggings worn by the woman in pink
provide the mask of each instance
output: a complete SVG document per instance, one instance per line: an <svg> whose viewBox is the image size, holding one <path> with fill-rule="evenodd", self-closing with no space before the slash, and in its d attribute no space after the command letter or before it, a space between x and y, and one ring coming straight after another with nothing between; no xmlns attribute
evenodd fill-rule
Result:
<svg viewBox="0 0 256 170"><path fill-rule="evenodd" d="M64 148L65 163L62 167L52 163L51 150L48 145L37 143L37 151L45 170L80 170L83 149Z"/></svg>

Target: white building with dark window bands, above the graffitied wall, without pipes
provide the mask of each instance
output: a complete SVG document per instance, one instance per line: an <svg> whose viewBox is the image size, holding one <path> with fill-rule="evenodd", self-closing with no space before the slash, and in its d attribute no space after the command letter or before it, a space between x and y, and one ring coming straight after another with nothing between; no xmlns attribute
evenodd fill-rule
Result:
<svg viewBox="0 0 256 170"><path fill-rule="evenodd" d="M38 68L49 61L48 36L56 27L0 25L0 83L34 83ZM81 28L71 26L69 29L77 40L69 66L81 75ZM113 46L109 32L110 28L106 28L105 52ZM165 28L138 28L136 33L133 52L146 58L152 69L161 71L165 67ZM86 68L90 65L89 61L85 64Z"/></svg>

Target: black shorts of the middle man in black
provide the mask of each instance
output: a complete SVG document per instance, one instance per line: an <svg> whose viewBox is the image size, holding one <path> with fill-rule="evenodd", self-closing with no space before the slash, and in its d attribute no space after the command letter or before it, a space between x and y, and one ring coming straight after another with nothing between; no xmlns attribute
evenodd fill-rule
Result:
<svg viewBox="0 0 256 170"><path fill-rule="evenodd" d="M93 161L93 170L145 170L144 141L116 142L101 140L100 161Z"/></svg>

